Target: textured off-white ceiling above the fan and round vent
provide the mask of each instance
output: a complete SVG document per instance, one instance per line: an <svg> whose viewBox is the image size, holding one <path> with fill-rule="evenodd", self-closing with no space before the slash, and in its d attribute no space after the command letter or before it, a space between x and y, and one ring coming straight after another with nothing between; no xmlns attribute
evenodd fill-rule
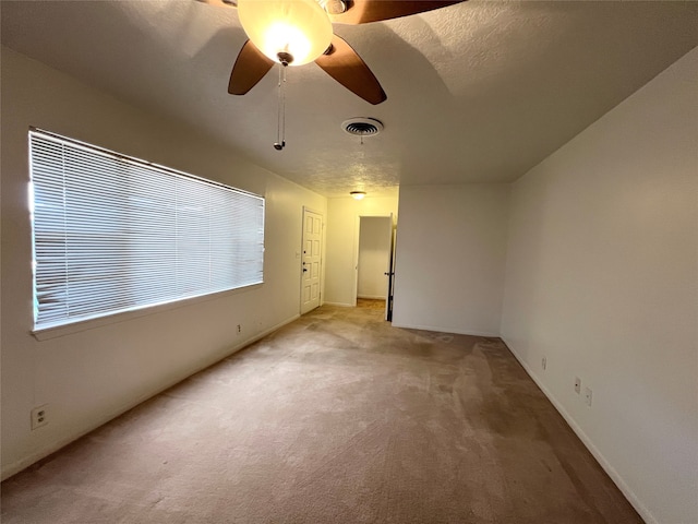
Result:
<svg viewBox="0 0 698 524"><path fill-rule="evenodd" d="M372 106L311 63L227 94L245 40L234 9L194 0L7 1L2 44L196 127L327 196L414 183L510 181L698 45L698 2L477 1L335 24L381 81ZM58 44L57 44L58 43ZM373 117L363 144L340 123Z"/></svg>

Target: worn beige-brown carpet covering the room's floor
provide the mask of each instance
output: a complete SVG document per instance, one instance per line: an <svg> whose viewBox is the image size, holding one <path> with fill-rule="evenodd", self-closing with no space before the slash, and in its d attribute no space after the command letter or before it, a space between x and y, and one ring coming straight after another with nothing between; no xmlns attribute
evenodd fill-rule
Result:
<svg viewBox="0 0 698 524"><path fill-rule="evenodd" d="M321 307L2 485L12 523L639 523L497 338Z"/></svg>

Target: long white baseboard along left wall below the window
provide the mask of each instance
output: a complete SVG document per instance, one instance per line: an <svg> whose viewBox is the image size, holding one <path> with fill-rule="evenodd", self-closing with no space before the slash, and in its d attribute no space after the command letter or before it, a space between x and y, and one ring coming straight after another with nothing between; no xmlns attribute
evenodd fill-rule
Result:
<svg viewBox="0 0 698 524"><path fill-rule="evenodd" d="M225 349L222 352L222 355L217 355L214 356L210 361L207 361L205 364L202 364L200 366L196 366L192 369L191 372L188 372L185 376L180 377L169 383L167 383L164 386L158 388L154 393L147 393L145 395L140 396L137 400L133 401L133 402L129 402L128 404L125 404L124 406L121 406L120 408L111 412L110 414L99 418L95 424L91 425L88 427L88 429L85 429L84 431L81 431L76 434L67 437L64 439L61 439L57 442L51 443L50 445L48 445L47 448L44 448L39 451L37 451L36 453L32 453L29 456L24 457L13 464L10 464L8 466L5 466L4 469L2 469L2 473L0 474L0 480L5 480L10 477L12 477L13 475L16 475L17 473L26 469L27 467L29 467L32 464L37 463L38 461L46 458L47 456L51 455L52 453L56 453L57 451L60 451L62 448L65 448L68 444L76 441L77 439L81 439L82 437L91 433L92 431L100 428L101 426L104 426L105 424L109 422L110 420L113 420L115 418L123 415L124 413L129 412L130 409L133 409L134 407L143 404L144 402L153 398L154 396L159 395L160 393L169 390L170 388L173 388L174 385L179 384L180 382L182 382L183 380L186 380L189 377L198 373L200 371L203 371L206 368L209 368L212 366L215 366L216 364L218 364L219 361L224 360L225 358L228 358L231 355L234 355L236 353L238 353L241 349L244 349L245 347L254 344L255 342L264 338L265 336L274 333L276 330L279 330L281 327L284 327L286 324L290 324L291 322L293 322L294 320L298 320L300 318L300 314L294 314L290 318L288 318L287 320L279 322L278 324L261 332L257 333L254 336L251 336L250 338L245 338L243 342L240 342L239 344L236 344L234 346L230 346L227 349Z"/></svg>

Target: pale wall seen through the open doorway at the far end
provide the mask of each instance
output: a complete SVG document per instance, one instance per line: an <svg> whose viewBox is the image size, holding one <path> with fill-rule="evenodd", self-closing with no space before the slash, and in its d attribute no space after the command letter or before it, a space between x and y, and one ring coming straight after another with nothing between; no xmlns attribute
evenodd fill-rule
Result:
<svg viewBox="0 0 698 524"><path fill-rule="evenodd" d="M359 298L386 299L393 222L390 217L363 216L359 233Z"/></svg>

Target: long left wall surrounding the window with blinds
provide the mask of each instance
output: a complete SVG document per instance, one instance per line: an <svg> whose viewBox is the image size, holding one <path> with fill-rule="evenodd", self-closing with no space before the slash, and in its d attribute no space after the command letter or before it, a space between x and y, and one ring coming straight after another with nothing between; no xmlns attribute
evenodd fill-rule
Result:
<svg viewBox="0 0 698 524"><path fill-rule="evenodd" d="M210 365L300 308L302 206L326 199L194 130L144 114L2 49L2 476ZM39 342L29 334L29 126L266 196L265 283ZM242 333L236 333L237 324ZM48 403L49 424L29 428Z"/></svg>

